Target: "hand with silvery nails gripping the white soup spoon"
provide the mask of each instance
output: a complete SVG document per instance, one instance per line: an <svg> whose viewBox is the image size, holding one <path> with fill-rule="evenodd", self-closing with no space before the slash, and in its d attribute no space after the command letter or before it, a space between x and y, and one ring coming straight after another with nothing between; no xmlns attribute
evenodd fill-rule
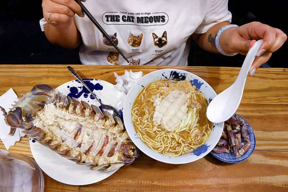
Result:
<svg viewBox="0 0 288 192"><path fill-rule="evenodd" d="M283 31L260 22L251 22L232 28L227 36L227 50L224 51L246 55L256 40L259 39L264 41L249 70L249 73L253 75L256 69L267 62L272 53L278 50L287 40L287 35Z"/></svg>

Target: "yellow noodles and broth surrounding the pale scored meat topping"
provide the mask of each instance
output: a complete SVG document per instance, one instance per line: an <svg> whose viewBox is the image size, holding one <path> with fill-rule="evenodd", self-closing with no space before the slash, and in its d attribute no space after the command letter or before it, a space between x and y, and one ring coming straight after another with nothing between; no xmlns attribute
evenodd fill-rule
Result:
<svg viewBox="0 0 288 192"><path fill-rule="evenodd" d="M203 104L198 102L199 98L202 98L202 100L204 98L206 101L204 94L195 88L189 90L188 86L182 87L183 91L191 94L188 104L196 108L197 115L199 116L195 126L181 133L176 133L173 131L167 132L161 126L154 124L153 115L155 107L153 104L156 96L162 99L171 90L179 88L177 86L177 83L171 80L155 81L149 84L137 96L139 98L138 104L134 104L131 111L132 122L137 136L153 151L173 157L191 152L203 145L208 139L213 125L206 118L206 115L200 116L199 111L202 107L204 107L205 112L207 108L207 103L203 106ZM199 124L200 121L202 121L202 125Z"/></svg>

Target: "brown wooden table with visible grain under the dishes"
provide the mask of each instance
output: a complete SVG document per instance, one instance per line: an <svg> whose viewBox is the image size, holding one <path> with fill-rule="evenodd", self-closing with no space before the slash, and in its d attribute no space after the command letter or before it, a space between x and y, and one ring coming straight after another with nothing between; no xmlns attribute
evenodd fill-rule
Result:
<svg viewBox="0 0 288 192"><path fill-rule="evenodd" d="M164 66L74 65L82 78L96 78L115 84L113 72L125 69L147 74ZM192 72L218 93L235 81L240 68L170 67ZM0 65L0 95L13 88L18 96L35 84L57 87L73 80L65 65ZM254 130L254 153L238 164L228 164L211 154L183 165L165 164L142 154L133 164L120 168L98 183L73 186L45 175L45 191L288 191L288 72L287 69L257 69L248 75L237 112ZM0 149L5 150L2 142ZM28 137L11 152L32 157ZM56 165L55 165L56 166ZM0 181L1 182L1 181Z"/></svg>

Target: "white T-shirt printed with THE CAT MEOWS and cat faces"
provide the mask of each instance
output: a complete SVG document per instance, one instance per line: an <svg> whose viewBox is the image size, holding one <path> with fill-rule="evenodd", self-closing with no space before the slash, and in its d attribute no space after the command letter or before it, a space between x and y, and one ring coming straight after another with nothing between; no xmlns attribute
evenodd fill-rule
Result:
<svg viewBox="0 0 288 192"><path fill-rule="evenodd" d="M192 33L232 18L228 0L87 0L84 5L126 57L140 65L187 66ZM87 16L76 15L74 21L82 37L82 64L128 64Z"/></svg>

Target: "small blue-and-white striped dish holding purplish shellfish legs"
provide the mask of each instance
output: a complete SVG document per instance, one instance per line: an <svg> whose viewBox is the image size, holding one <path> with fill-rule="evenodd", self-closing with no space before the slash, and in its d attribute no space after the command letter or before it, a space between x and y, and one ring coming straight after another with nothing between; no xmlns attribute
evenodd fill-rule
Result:
<svg viewBox="0 0 288 192"><path fill-rule="evenodd" d="M226 163L240 163L242 161L245 161L246 159L248 159L248 157L250 157L250 155L252 155L252 153L255 149L256 139L255 139L255 134L253 132L253 129L251 128L248 121L246 121L246 119L244 119L243 117L241 117L238 114L236 114L236 115L238 117L242 118L247 124L246 133L249 134L251 146L243 155L241 155L241 157L235 157L234 153L214 153L213 151L210 152L214 157L216 157L217 159L224 161Z"/></svg>

